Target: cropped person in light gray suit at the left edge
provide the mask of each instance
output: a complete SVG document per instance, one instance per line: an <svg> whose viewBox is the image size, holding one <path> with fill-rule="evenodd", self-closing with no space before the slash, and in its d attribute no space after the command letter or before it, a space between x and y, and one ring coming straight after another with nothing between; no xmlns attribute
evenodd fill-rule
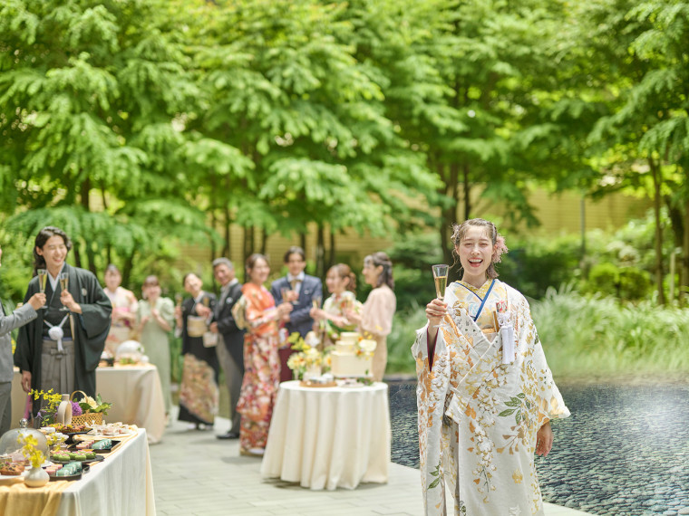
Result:
<svg viewBox="0 0 689 516"><path fill-rule="evenodd" d="M0 266L2 266L3 248L0 247ZM15 376L12 358L12 335L10 331L24 326L36 318L36 311L45 304L45 294L36 292L29 301L10 315L5 315L5 308L0 302L0 435L10 429L12 422L12 377ZM15 421L15 424L18 421Z"/></svg>

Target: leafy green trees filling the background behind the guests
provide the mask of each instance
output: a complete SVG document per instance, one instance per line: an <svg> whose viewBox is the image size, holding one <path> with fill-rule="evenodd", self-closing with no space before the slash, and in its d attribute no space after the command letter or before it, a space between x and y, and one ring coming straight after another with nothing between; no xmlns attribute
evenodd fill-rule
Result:
<svg viewBox="0 0 689 516"><path fill-rule="evenodd" d="M663 305L671 254L689 285L687 19L682 0L5 0L0 293L22 297L44 225L78 266L170 291L198 265L182 245L246 256L312 225L321 275L343 232L398 235L415 322L451 223L487 216L529 296ZM582 254L516 233L536 187L654 208Z"/></svg>

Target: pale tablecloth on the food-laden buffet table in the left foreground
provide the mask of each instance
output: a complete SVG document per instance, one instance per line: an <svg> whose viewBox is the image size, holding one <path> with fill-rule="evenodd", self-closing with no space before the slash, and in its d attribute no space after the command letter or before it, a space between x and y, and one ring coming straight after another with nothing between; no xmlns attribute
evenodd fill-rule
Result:
<svg viewBox="0 0 689 516"><path fill-rule="evenodd" d="M153 477L146 431L125 437L82 479L26 487L20 479L0 481L0 514L22 516L155 516Z"/></svg>

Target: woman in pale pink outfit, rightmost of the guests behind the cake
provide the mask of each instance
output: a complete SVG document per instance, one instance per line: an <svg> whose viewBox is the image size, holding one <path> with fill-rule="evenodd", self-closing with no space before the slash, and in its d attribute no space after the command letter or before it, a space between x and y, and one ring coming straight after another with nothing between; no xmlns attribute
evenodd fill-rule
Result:
<svg viewBox="0 0 689 516"><path fill-rule="evenodd" d="M345 311L347 320L358 325L365 339L374 339L374 381L383 380L387 365L387 336L393 330L394 311L397 298L394 296L393 263L383 252L369 254L364 258L364 281L374 287L368 294L361 313L354 309Z"/></svg>

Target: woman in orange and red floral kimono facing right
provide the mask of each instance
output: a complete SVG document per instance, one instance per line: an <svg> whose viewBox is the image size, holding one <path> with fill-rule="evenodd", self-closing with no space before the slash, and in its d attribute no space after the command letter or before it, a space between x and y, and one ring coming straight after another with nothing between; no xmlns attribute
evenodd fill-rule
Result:
<svg viewBox="0 0 689 516"><path fill-rule="evenodd" d="M245 370L237 404L237 410L242 415L239 453L262 455L280 382L277 324L292 311L292 304L284 302L276 307L273 296L263 286L270 273L270 266L263 254L249 256L246 267L249 281L242 287L247 324L244 336Z"/></svg>

